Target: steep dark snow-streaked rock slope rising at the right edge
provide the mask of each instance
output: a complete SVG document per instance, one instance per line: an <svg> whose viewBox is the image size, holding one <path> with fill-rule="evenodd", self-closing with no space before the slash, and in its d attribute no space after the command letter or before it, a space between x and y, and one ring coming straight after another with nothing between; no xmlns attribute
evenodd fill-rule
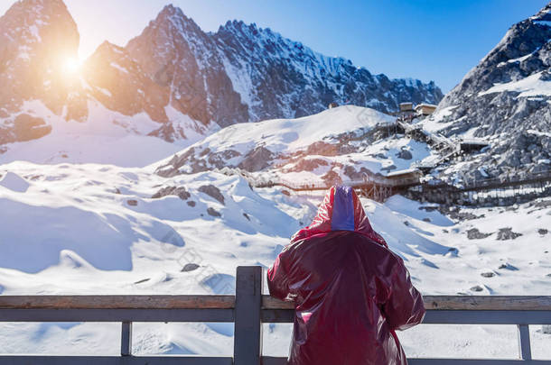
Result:
<svg viewBox="0 0 551 365"><path fill-rule="evenodd" d="M551 169L551 5L513 25L500 43L444 97L434 115L448 136L470 131L491 149L464 165L474 176ZM449 124L444 124L449 123Z"/></svg>

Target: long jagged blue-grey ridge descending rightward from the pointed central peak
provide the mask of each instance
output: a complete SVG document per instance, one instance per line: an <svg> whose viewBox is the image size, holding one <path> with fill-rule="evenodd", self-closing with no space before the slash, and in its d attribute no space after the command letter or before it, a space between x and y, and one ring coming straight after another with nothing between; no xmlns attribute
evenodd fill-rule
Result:
<svg viewBox="0 0 551 365"><path fill-rule="evenodd" d="M332 102L386 113L403 101L437 104L443 97L434 82L371 75L255 24L228 22L213 36L253 121L316 114Z"/></svg>

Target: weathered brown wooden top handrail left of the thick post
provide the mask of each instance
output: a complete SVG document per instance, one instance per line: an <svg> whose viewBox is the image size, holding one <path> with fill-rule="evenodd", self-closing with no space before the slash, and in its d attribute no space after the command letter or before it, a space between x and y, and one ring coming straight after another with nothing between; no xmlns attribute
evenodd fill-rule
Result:
<svg viewBox="0 0 551 365"><path fill-rule="evenodd" d="M235 296L0 296L0 309L231 309Z"/></svg>

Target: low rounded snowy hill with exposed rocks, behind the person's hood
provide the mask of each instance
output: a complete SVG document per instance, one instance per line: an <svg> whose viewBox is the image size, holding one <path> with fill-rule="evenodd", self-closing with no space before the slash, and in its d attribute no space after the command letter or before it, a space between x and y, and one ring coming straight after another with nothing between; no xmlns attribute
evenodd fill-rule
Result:
<svg viewBox="0 0 551 365"><path fill-rule="evenodd" d="M344 105L297 119L238 123L156 164L166 177L238 168L261 181L341 183L410 169L434 154L425 142L394 138L394 117Z"/></svg>

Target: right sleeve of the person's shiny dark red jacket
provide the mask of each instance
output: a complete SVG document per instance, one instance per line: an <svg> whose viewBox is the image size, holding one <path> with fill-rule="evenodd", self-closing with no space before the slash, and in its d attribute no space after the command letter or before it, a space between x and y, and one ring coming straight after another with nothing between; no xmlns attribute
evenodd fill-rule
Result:
<svg viewBox="0 0 551 365"><path fill-rule="evenodd" d="M425 317L423 297L411 283L404 261L399 257L388 278L389 295L382 310L392 330L406 330Z"/></svg>

